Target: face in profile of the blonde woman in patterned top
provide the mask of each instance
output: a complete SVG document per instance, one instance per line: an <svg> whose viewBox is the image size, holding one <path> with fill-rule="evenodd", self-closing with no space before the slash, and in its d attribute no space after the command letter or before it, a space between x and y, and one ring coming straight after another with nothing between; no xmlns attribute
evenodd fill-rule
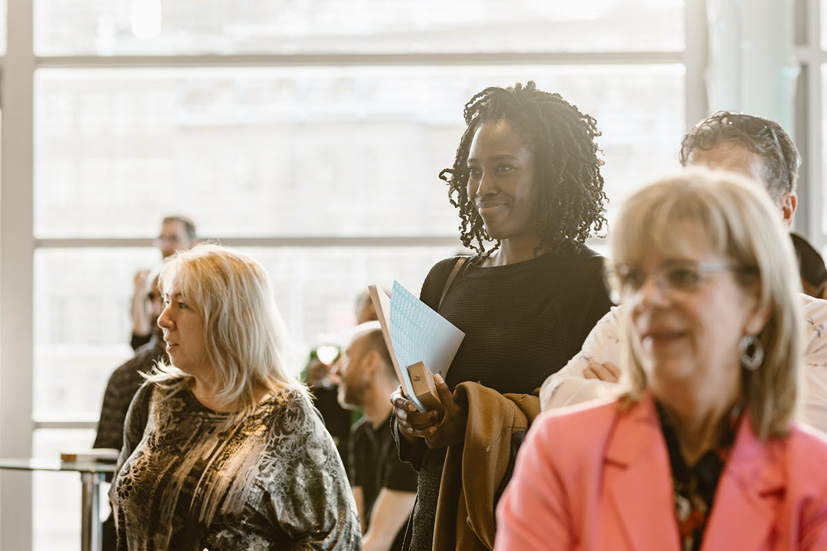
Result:
<svg viewBox="0 0 827 551"><path fill-rule="evenodd" d="M194 305L181 293L178 278L172 278L164 289L164 310L158 326L164 330L166 352L174 367L199 378L208 378L212 371L204 347L204 321Z"/></svg>

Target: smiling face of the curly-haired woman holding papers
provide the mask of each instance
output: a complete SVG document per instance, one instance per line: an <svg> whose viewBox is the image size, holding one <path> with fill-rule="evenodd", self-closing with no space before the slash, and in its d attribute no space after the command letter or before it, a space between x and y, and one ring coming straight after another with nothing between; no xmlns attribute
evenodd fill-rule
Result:
<svg viewBox="0 0 827 551"><path fill-rule="evenodd" d="M468 152L468 199L495 240L537 235L533 153L508 121L483 122Z"/></svg>

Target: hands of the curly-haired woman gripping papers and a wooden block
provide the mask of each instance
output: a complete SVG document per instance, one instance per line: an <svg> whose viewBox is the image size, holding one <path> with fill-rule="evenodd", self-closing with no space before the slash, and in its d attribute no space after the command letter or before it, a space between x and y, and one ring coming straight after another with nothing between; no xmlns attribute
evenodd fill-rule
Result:
<svg viewBox="0 0 827 551"><path fill-rule="evenodd" d="M462 444L465 440L468 411L454 401L451 391L440 375L434 376L442 407L420 413L413 402L404 396L401 388L390 395L399 434L409 442L424 438L429 448L445 448Z"/></svg>

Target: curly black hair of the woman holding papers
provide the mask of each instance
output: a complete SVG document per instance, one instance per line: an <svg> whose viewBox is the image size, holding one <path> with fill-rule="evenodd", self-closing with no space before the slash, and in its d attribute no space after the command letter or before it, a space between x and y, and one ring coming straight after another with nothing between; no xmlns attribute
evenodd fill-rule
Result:
<svg viewBox="0 0 827 551"><path fill-rule="evenodd" d="M460 214L462 245L481 255L494 252L500 242L488 235L482 217L468 199L468 154L476 130L485 121L507 121L533 152L538 183L535 229L538 249L566 252L576 249L606 225L603 191L595 138L600 136L592 116L566 102L558 93L538 90L533 81L514 88L485 88L465 106L466 131L451 169L439 178L448 184L448 198ZM592 233L594 230L594 233ZM474 243L473 241L476 241ZM485 250L485 241L495 241Z"/></svg>

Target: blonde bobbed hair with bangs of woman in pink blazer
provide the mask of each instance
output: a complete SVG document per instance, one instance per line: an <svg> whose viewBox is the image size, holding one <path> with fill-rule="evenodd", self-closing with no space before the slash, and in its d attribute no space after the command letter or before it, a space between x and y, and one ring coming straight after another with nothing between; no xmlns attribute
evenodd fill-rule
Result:
<svg viewBox="0 0 827 551"><path fill-rule="evenodd" d="M687 225L703 230L715 253L753 272L735 276L744 288L757 288L758 309L769 311L769 318L757 335L763 362L754 371L743 369L742 392L753 433L762 440L785 435L801 387L801 282L778 209L766 192L738 174L688 169L638 190L624 203L610 235L613 262L639 263L649 251L674 257L691 246ZM628 336L627 402L637 401L648 386Z"/></svg>

